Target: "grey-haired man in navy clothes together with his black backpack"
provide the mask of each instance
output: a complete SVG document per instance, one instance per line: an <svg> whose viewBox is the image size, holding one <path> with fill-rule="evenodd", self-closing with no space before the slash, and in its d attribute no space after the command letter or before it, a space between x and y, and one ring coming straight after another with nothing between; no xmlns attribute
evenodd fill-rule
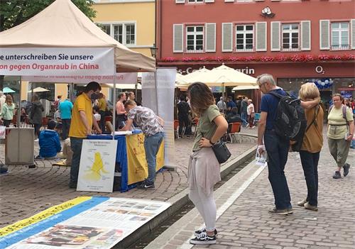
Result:
<svg viewBox="0 0 355 249"><path fill-rule="evenodd" d="M284 172L290 140L298 139L300 134L305 133L303 126L304 124L307 126L307 122L305 123L304 113L302 117L302 108L315 106L319 103L319 99L307 102L293 99L283 89L276 86L271 74L261 74L257 78L257 83L263 92L261 117L258 123L258 152L268 155L268 179L275 198L275 207L269 212L271 214L293 214L290 191ZM285 110L280 110L283 108Z"/></svg>

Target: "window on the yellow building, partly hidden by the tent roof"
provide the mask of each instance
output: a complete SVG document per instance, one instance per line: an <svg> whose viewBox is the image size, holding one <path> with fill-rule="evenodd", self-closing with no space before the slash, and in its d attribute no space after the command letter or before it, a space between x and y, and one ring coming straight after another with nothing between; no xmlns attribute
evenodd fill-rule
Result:
<svg viewBox="0 0 355 249"><path fill-rule="evenodd" d="M98 23L104 32L124 45L136 44L136 24L135 23Z"/></svg>

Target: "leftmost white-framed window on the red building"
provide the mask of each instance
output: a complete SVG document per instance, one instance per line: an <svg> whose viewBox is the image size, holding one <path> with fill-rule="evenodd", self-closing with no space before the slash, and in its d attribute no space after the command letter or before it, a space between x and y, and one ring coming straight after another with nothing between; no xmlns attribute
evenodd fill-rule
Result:
<svg viewBox="0 0 355 249"><path fill-rule="evenodd" d="M203 52L203 27L186 27L186 52Z"/></svg>

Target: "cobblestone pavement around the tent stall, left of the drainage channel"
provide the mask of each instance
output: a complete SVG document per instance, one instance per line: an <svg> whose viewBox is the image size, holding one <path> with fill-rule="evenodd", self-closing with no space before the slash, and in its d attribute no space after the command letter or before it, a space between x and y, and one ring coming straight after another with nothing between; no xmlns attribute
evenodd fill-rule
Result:
<svg viewBox="0 0 355 249"><path fill-rule="evenodd" d="M187 187L187 162L191 153L193 138L175 140L176 171L165 170L157 174L155 190L131 189L129 192L111 194L96 192L76 192L68 187L70 167L52 166L53 160L35 161L37 167L31 169L23 165L10 165L9 174L0 176L0 227L28 218L79 196L104 195L166 201ZM243 137L242 143L228 144L232 156L241 155L256 145L256 140ZM38 143L35 143L35 155L38 155ZM4 145L0 145L0 162L4 162Z"/></svg>

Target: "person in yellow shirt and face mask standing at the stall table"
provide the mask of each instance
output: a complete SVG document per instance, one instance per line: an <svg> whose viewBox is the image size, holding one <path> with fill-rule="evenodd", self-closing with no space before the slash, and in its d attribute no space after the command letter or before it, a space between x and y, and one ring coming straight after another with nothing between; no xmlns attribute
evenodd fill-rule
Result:
<svg viewBox="0 0 355 249"><path fill-rule="evenodd" d="M77 96L72 108L72 122L70 124L70 146L72 148L72 167L70 167L69 187L77 187L79 175L80 155L82 153L82 140L92 134L92 126L97 133L102 133L92 113L92 100L99 98L101 87L97 82L90 82L84 92Z"/></svg>

